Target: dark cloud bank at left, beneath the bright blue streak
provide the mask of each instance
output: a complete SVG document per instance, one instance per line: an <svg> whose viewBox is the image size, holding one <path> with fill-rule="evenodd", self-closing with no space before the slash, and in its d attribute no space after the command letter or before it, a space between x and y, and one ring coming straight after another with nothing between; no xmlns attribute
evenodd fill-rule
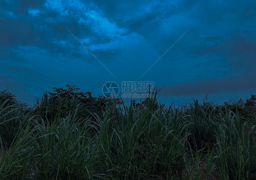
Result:
<svg viewBox="0 0 256 180"><path fill-rule="evenodd" d="M56 21L38 25L33 19L30 22L16 22L13 19L5 20L0 18L0 46L13 46L11 49L2 48L0 49L0 52L2 54L8 52L13 54L15 49L20 48L18 46L15 47L14 45L34 45L47 49L47 51L54 57L61 57L63 53L65 53L66 56L81 58L81 60L93 59L91 55L86 53L87 50L67 31L67 28L80 40L82 39L81 37L90 37L90 42L85 43L85 46L90 46L90 44L95 43L103 44L111 41L110 38L102 38L101 35L93 32L89 25L80 24L79 20L76 18L69 18L69 21L55 23ZM44 46L42 47L36 43L43 44ZM106 57L111 57L113 51L114 53L118 53L120 50L110 50L109 54L107 50L95 51L104 51ZM97 56L97 54L95 55ZM85 58L86 56L88 56L88 58ZM95 61L89 60L88 62Z"/></svg>

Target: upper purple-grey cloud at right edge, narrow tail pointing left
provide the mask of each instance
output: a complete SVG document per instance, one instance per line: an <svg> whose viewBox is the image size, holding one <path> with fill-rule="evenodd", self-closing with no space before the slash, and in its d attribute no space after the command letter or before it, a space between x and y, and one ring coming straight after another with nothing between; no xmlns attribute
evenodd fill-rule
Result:
<svg viewBox="0 0 256 180"><path fill-rule="evenodd" d="M227 66L234 73L249 73L256 69L256 34L252 31L229 33L230 39L209 48L193 48L195 54L224 54Z"/></svg>

